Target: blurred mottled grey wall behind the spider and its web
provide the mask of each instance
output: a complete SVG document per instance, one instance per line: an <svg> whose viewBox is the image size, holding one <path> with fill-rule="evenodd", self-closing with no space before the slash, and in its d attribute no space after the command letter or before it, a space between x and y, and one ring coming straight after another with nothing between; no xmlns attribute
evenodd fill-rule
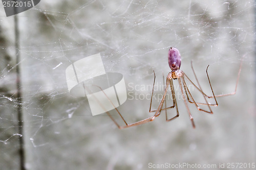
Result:
<svg viewBox="0 0 256 170"><path fill-rule="evenodd" d="M27 169L148 169L150 164L164 163L215 164L215 169L225 163L222 169L227 169L228 163L255 162L254 13L255 2L247 0L44 0L17 14L20 62L16 63L14 16L6 17L0 5L1 169L19 169L17 67ZM87 98L69 94L66 68L100 53L105 70L124 77L129 96L118 109L125 120L147 118L154 114L148 113L153 70L161 86L163 75L170 71L170 46L179 49L181 69L196 82L193 60L209 95L207 65L215 94L229 93L244 56L236 95L218 98L214 114L189 104L196 129L181 99L177 99L180 116L172 122L166 123L162 112L151 123L119 130L105 113L92 116ZM163 94L160 88L154 92ZM195 98L197 93L193 91ZM153 101L153 109L158 105ZM169 117L175 114L175 109L168 110Z"/></svg>

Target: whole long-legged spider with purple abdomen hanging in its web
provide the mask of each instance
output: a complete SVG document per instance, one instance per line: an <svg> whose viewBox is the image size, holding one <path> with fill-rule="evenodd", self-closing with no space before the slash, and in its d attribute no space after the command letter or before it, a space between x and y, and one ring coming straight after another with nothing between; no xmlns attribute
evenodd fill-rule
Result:
<svg viewBox="0 0 256 170"><path fill-rule="evenodd" d="M242 61L241 61L241 64L240 64L240 68L239 68L239 72L238 72L238 78L237 78L237 83L236 83L236 87L234 89L233 92L231 93L227 93L227 94L220 94L220 95L215 95L214 94L214 90L212 90L212 87L211 87L211 83L210 83L210 79L209 79L209 76L208 76L208 67L209 65L207 66L206 68L206 75L207 75L207 79L208 79L208 82L209 82L209 85L210 85L210 88L211 88L211 92L212 92L212 96L208 96L206 95L203 91L202 91L202 88L199 84L199 81L197 79L197 76L195 74L195 71L194 71L194 68L193 68L193 65L192 65L192 62L191 62L191 68L193 70L193 74L196 78L196 81L198 83L198 86L195 85L195 83L193 83L188 77L187 75L184 73L184 71L180 70L180 65L181 65L181 55L180 55L180 52L178 51L177 48L175 47L170 47L169 48L169 51L168 51L168 63L169 63L169 67L172 71L170 71L166 77L166 84L165 84L165 90L164 90L164 94L163 94L163 98L157 108L157 110L151 110L151 106L152 106L152 96L153 96L153 93L154 93L154 86L155 86L155 80L156 80L156 75L155 75L155 71L154 72L154 83L153 83L153 90L152 90L152 95L151 95L151 103L150 103L150 110L149 112L155 112L155 114L151 117L148 117L146 119L143 119L143 120L140 120L138 122L135 122L135 123L132 123L132 124L127 124L126 121L124 120L123 116L121 115L121 113L116 109L116 111L118 112L118 114L121 116L123 122L125 123L125 126L120 126L116 120L113 118L113 116L109 113L109 112L106 112L106 114L108 114L110 116L110 118L113 120L113 122L116 124L116 126L119 128L119 129L124 129L124 128L129 128L129 127L133 127L133 126L138 126L138 125L141 125L141 124L145 124L145 123L148 123L148 122L152 122L156 117L158 117L161 113L162 110L165 110L165 117L166 117L166 122L169 122L170 120L173 120L177 117L179 117L179 111L178 111L178 107L177 107L177 101L176 101L176 96L175 96L175 90L174 90L174 85L173 85L173 81L174 80L178 80L178 83L179 83L179 87L180 87L180 90L181 90L181 94L182 96L186 96L186 98L182 98L184 103L185 103L185 107L186 107L186 110L189 114L189 118L190 118L190 121L191 121L191 124L193 126L193 128L195 128L195 123L194 123L194 119L193 119L193 116L191 115L190 111L189 111L189 108L188 108L188 103L191 103L191 104L194 104L197 109L199 111L202 111L202 112L206 112L206 113L210 113L212 114L212 110L210 108L210 106L218 106L218 103L217 103L217 100L216 98L217 97L220 97L220 96L226 96L226 95L233 95L233 94L236 94L237 92L237 86L238 86L238 81L239 81L239 77L240 77L240 72L241 72L241 67L242 67ZM204 97L204 100L206 103L197 103L193 96L191 95L187 85L186 85L186 81L187 80L188 82L190 82L201 94L203 94L203 97ZM170 106L170 107L166 107L166 102L165 102L165 98L166 98L166 93L168 91L168 86L170 86L170 91L172 92L172 98L173 98L173 106ZM184 95L186 94L186 95ZM106 95L106 94L105 94ZM215 104L210 104L207 102L206 98L214 98L215 100ZM111 101L110 101L111 102ZM165 102L165 108L163 108L163 104ZM112 102L111 102L112 103ZM113 104L113 103L112 103ZM206 105L209 109L209 111L205 110L205 109L202 109L199 107L199 105ZM113 105L114 106L114 105ZM167 109L172 109L172 108L176 108L176 116L172 117L172 118L168 118L167 117L167 112L166 110Z"/></svg>

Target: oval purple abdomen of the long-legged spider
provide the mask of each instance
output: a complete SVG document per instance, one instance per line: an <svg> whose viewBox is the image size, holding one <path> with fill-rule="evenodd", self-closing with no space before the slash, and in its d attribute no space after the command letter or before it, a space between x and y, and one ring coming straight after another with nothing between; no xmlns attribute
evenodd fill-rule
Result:
<svg viewBox="0 0 256 170"><path fill-rule="evenodd" d="M180 69L180 64L181 64L181 56L180 52L177 48L175 47L170 47L168 51L168 63L170 69L172 71Z"/></svg>

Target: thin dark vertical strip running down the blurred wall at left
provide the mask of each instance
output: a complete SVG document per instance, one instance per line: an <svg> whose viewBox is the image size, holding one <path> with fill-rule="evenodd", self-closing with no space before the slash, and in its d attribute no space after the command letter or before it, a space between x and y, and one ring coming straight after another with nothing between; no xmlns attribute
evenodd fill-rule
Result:
<svg viewBox="0 0 256 170"><path fill-rule="evenodd" d="M18 28L18 17L14 16L14 27L15 27L15 49L16 49L16 88L17 88L17 114L18 114L18 133L19 138L19 157L20 157L20 169L25 169L25 153L24 153L24 133L23 133L23 116L22 116L22 92L20 84L20 53L19 53L19 28Z"/></svg>

